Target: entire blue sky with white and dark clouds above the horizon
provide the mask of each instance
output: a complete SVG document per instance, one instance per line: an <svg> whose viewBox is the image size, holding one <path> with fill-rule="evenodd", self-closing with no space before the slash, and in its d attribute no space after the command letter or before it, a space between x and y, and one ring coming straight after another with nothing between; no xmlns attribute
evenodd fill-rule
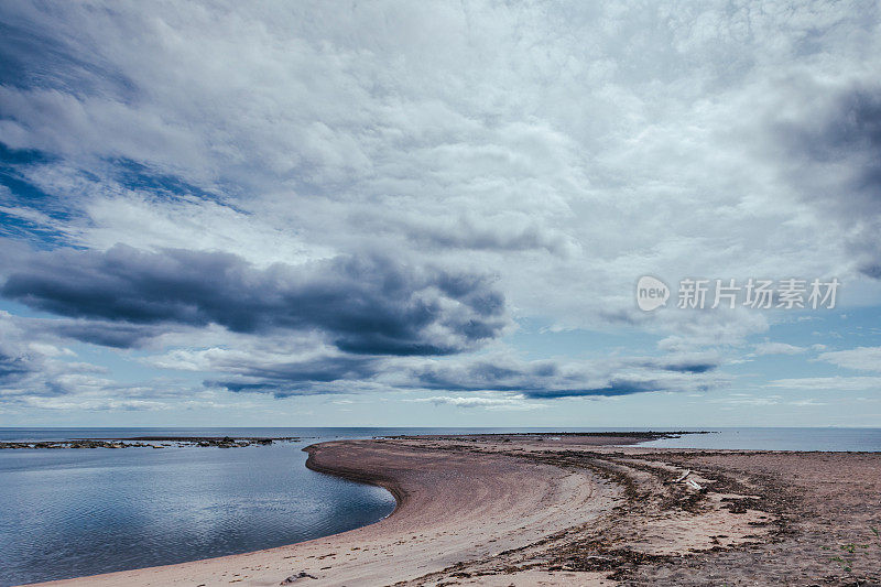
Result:
<svg viewBox="0 0 881 587"><path fill-rule="evenodd" d="M0 425L879 425L879 10L0 1Z"/></svg>

